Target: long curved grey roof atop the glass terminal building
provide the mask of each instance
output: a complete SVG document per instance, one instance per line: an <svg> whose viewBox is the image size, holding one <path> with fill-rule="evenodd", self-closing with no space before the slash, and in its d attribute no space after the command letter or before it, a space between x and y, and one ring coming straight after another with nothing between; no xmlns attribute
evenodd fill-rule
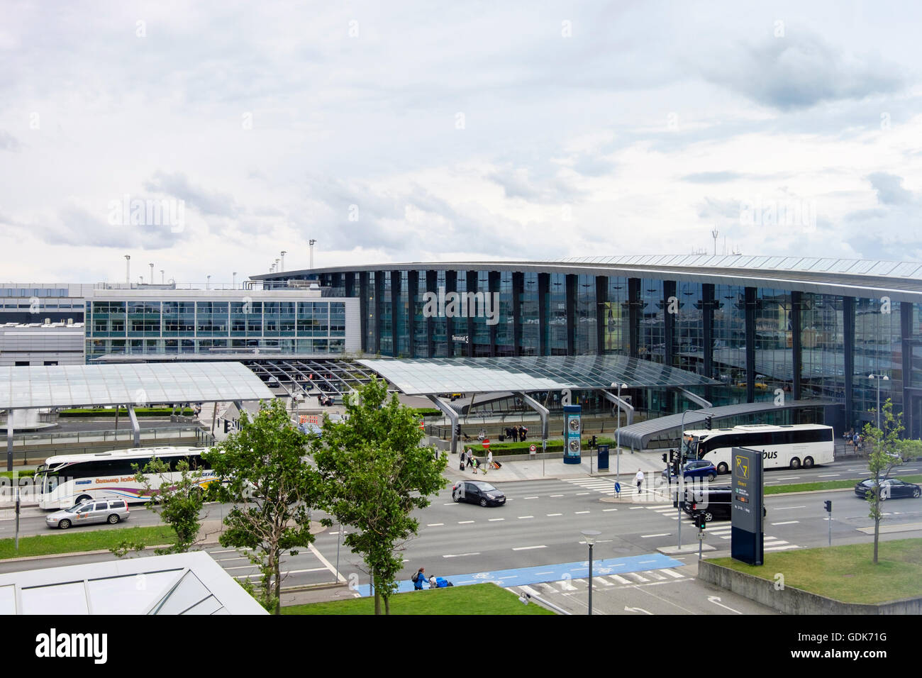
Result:
<svg viewBox="0 0 922 678"><path fill-rule="evenodd" d="M317 273L378 270L499 270L687 280L722 285L922 302L922 263L809 256L634 255L547 261L436 261L313 268L252 276L287 280Z"/></svg>

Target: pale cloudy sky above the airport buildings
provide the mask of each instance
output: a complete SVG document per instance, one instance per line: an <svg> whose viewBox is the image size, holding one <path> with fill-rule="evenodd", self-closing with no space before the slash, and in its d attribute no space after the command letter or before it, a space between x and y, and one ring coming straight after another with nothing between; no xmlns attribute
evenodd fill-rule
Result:
<svg viewBox="0 0 922 678"><path fill-rule="evenodd" d="M922 260L922 6L803 5L7 1L0 279Z"/></svg>

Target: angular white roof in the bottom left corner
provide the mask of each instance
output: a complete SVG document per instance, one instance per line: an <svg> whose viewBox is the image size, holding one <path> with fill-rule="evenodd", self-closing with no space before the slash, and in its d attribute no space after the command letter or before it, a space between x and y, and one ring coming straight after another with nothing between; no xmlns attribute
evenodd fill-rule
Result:
<svg viewBox="0 0 922 678"><path fill-rule="evenodd" d="M0 575L4 614L267 614L202 551Z"/></svg>

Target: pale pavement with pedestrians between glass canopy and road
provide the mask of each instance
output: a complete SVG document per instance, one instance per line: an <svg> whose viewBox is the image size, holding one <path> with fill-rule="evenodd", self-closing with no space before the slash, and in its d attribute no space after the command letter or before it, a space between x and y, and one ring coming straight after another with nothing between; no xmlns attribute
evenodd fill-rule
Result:
<svg viewBox="0 0 922 678"><path fill-rule="evenodd" d="M514 461L501 461L501 469L491 469L486 473L483 472L486 463L486 457L475 455L480 459L480 470L474 474L473 469L464 471L458 468L458 455L448 455L448 467L444 475L451 481L460 480L482 480L486 482L515 482L515 481L542 481L542 480L562 480L571 478L588 478L590 476L600 476L624 482L632 482L638 469L644 471L644 476L650 477L656 475L665 468L662 459L662 450L651 450L649 452L634 452L621 449L621 476L616 478L615 470L618 466L617 457L612 451L609 454L609 472L599 472L597 470L596 456L591 458L592 472L590 473L590 457L583 455L581 464L564 464L563 458L528 458L523 455L522 459Z"/></svg>

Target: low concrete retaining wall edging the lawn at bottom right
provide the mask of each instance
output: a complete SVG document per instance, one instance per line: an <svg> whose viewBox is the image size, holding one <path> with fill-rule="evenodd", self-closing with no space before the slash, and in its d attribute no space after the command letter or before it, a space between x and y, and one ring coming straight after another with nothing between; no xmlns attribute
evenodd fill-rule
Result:
<svg viewBox="0 0 922 678"><path fill-rule="evenodd" d="M776 590L772 579L753 577L706 560L698 564L698 578L785 614L922 614L922 598L877 605L834 601L790 586Z"/></svg>

